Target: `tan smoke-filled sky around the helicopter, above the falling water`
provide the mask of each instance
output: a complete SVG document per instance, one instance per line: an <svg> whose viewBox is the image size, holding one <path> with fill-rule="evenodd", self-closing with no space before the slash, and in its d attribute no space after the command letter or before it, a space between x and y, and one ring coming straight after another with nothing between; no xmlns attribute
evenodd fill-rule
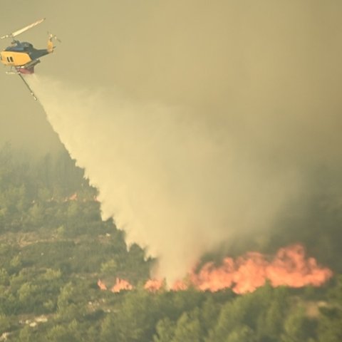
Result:
<svg viewBox="0 0 342 342"><path fill-rule="evenodd" d="M49 30L63 41L54 56L42 58L38 73L66 86L113 86L139 100L189 105L208 120L228 121L233 131L243 125L245 138L257 143L292 135L281 148L293 154L294 144L322 150L323 140L338 140L331 129L337 133L339 120L341 6L331 0L4 1L1 32L46 17L21 36L45 46ZM4 74L0 83L1 138L42 135L51 142L42 111L19 80ZM260 125L276 127L260 137ZM316 136L314 144L303 130Z"/></svg>

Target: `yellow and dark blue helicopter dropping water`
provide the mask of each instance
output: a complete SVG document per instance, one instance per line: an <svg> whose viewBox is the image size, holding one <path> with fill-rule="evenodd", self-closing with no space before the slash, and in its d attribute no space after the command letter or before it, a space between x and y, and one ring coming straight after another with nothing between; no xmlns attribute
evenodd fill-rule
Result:
<svg viewBox="0 0 342 342"><path fill-rule="evenodd" d="M30 90L31 95L34 100L38 100L36 95L33 93L33 90L26 82L23 74L32 74L34 73L34 67L40 63L40 59L43 56L46 56L50 53L53 53L55 46L53 46L53 39L61 42L56 36L51 33L48 33L48 46L47 48L37 49L34 48L31 43L27 41L17 41L14 37L19 36L19 34L28 31L30 28L41 24L45 18L39 19L34 23L21 28L18 31L14 31L12 33L6 34L5 36L1 36L0 39L4 38L12 38L11 46L8 46L4 49L4 51L0 52L0 61L4 64L4 66L10 66L10 70L6 71L7 74L17 74L22 81L24 81L28 90Z"/></svg>

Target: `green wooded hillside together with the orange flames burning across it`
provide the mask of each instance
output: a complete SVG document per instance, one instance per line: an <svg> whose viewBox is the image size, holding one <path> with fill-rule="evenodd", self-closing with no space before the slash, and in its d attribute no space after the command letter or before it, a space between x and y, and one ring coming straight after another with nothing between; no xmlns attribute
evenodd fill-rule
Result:
<svg viewBox="0 0 342 342"><path fill-rule="evenodd" d="M272 255L249 252L219 264L202 261L185 279L169 283L171 291L166 291L165 280L146 281L153 261L144 258L137 244L128 250L113 220L101 219L93 200L95 190L66 157L51 163L55 168L43 164L47 177L42 182L36 176L41 163L31 170L18 167L0 152L2 338L36 342L341 341L341 220L320 222L321 230L308 233L314 241L301 238L336 274L321 289L291 291L286 287L319 286L332 275L296 244ZM60 165L69 167L59 174ZM61 177L52 177L55 174ZM66 178L68 187L63 185ZM330 218L331 212L323 217ZM312 229L309 224L303 227ZM294 238L290 233L284 234L287 241ZM94 289L99 266L105 276L95 279ZM144 281L145 291L128 291L136 284L143 287ZM233 291L252 293L238 296ZM40 324L37 316L48 321Z"/></svg>

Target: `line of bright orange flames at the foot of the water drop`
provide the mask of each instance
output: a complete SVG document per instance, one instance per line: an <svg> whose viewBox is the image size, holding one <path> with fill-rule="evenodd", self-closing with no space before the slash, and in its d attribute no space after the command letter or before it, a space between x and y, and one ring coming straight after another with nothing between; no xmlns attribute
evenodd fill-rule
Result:
<svg viewBox="0 0 342 342"><path fill-rule="evenodd" d="M213 262L204 264L195 272L187 275L186 281L178 280L172 286L172 291L186 290L193 286L199 291L219 291L232 289L236 294L253 292L269 281L271 286L303 287L307 285L321 286L331 278L333 272L318 266L316 259L306 258L305 249L301 244L294 244L279 249L273 259L259 252L248 252L236 260L224 258L220 266ZM106 289L105 284L98 281L100 289ZM104 287L103 287L104 286ZM161 279L149 279L144 288L156 292L165 287ZM133 286L123 279L116 279L110 291L133 289Z"/></svg>

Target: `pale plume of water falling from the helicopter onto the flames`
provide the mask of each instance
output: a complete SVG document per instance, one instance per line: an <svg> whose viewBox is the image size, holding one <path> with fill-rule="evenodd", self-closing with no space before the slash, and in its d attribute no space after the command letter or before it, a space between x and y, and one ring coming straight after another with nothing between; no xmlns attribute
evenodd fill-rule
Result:
<svg viewBox="0 0 342 342"><path fill-rule="evenodd" d="M158 257L157 274L169 281L234 232L269 227L298 189L294 170L265 169L192 108L134 103L115 90L76 90L48 78L29 81L53 129L98 187L103 218L113 216L128 244Z"/></svg>

